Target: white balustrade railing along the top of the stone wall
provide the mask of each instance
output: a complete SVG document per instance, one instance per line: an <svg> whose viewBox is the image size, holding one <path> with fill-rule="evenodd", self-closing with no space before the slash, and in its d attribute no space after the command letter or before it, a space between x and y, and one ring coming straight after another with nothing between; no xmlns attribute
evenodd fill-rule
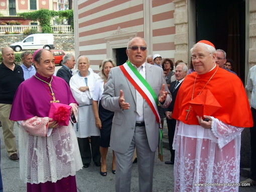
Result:
<svg viewBox="0 0 256 192"><path fill-rule="evenodd" d="M53 33L74 33L70 25L54 25L51 26ZM17 26L2 26L0 25L0 34L23 34L25 29L37 29L38 32L42 32L40 26L31 25L17 25Z"/></svg>

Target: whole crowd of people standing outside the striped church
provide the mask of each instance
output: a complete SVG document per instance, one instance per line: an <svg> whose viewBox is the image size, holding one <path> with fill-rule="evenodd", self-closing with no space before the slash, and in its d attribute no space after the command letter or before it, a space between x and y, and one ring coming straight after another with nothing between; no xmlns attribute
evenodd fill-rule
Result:
<svg viewBox="0 0 256 192"><path fill-rule="evenodd" d="M145 40L135 37L127 43L128 60L118 67L105 59L97 74L87 56L76 62L66 54L54 76L49 50L23 52L19 66L14 51L3 48L0 120L9 158L20 160L27 191L77 191L76 171L91 162L106 176L109 147L115 190L131 191L136 154L140 191L152 191L165 119L171 153L165 164L174 164L175 191L238 191L238 186L195 183L239 183L241 132L256 118L256 68L248 75L249 103L225 51L202 40L190 53L189 66L182 60L174 64L148 55ZM253 128L250 134L251 176L241 183L256 184Z"/></svg>

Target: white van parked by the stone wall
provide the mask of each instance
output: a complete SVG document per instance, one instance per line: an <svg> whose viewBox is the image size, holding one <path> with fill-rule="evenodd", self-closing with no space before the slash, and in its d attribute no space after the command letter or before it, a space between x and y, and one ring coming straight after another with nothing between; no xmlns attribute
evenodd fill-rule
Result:
<svg viewBox="0 0 256 192"><path fill-rule="evenodd" d="M10 47L19 52L21 50L54 49L53 34L32 34L21 42L13 43Z"/></svg>

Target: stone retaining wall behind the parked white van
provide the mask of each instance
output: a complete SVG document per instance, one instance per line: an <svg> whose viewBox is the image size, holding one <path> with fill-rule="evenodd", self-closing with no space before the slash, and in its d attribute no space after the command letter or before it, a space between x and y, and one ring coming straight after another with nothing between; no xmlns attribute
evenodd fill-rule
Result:
<svg viewBox="0 0 256 192"><path fill-rule="evenodd" d="M12 43L22 41L27 35L0 35L0 50L3 47L9 47ZM55 49L64 51L74 51L74 34L53 34Z"/></svg>

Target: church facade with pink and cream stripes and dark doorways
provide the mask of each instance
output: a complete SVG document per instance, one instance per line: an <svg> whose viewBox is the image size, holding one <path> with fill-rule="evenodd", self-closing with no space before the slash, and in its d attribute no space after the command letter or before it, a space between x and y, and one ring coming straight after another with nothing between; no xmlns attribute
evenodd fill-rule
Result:
<svg viewBox="0 0 256 192"><path fill-rule="evenodd" d="M105 58L121 65L135 36L148 54L186 63L191 47L209 40L235 61L243 82L256 64L255 0L79 0L73 8L76 55L87 55L94 70Z"/></svg>

